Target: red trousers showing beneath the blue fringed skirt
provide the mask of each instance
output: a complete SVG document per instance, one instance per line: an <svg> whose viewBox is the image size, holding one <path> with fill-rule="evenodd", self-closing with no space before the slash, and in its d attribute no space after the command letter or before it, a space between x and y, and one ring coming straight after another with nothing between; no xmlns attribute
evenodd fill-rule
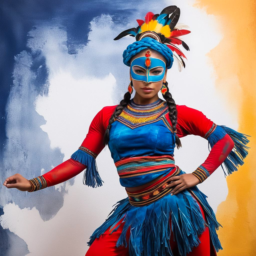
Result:
<svg viewBox="0 0 256 256"><path fill-rule="evenodd" d="M192 195L193 196L193 195ZM195 198L195 197L194 197ZM195 198L196 199L196 198ZM199 204L199 202L197 201ZM199 204L200 210L202 212L202 216L205 219L204 210ZM121 219L116 225L118 226L123 219ZM170 219L170 227L171 227L171 219ZM116 247L116 241L118 240L124 223L112 234L109 234L110 227L99 237L96 238L91 246L89 247L85 256L129 256L129 247L125 248L124 246ZM115 228L114 227L114 228ZM126 241L129 239L130 229L128 229L126 234ZM194 247L193 250L187 254L187 256L217 256L217 253L213 247L213 244L210 239L209 229L206 227L205 231L199 236L201 243L199 246ZM171 232L170 237L170 247L172 249L174 256L180 256L178 252L178 247L176 242L173 241L173 233Z"/></svg>

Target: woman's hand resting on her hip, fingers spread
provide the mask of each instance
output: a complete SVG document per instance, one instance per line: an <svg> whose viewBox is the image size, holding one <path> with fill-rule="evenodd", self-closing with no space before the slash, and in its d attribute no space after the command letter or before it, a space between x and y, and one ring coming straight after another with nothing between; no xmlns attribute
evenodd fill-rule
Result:
<svg viewBox="0 0 256 256"><path fill-rule="evenodd" d="M185 173L179 176L174 176L168 179L168 181L171 181L171 183L168 184L165 188L175 186L171 193L172 196L178 194L180 191L186 188L194 187L200 183L200 180L192 173Z"/></svg>

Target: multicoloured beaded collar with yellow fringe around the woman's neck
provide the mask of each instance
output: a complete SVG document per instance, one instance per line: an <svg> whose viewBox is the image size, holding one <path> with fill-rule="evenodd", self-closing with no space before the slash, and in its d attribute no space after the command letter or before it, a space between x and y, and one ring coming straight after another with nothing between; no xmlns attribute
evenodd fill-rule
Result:
<svg viewBox="0 0 256 256"><path fill-rule="evenodd" d="M168 113L168 104L162 99L145 105L137 104L133 99L130 99L127 106L115 120L134 129L138 126L165 119L164 115L166 113Z"/></svg>

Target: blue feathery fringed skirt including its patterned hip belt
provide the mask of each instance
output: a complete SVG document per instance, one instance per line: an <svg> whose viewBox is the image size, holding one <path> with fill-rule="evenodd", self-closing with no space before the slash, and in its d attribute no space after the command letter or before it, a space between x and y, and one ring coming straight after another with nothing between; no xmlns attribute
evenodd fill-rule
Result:
<svg viewBox="0 0 256 256"><path fill-rule="evenodd" d="M129 246L130 256L173 256L170 248L171 232L179 254L186 256L193 247L199 245L198 237L206 227L209 228L215 250L222 249L216 233L221 225L206 200L207 196L196 186L173 196L170 194L172 188L165 189L168 178L181 174L185 172L176 166L172 172L156 183L138 191L126 191L128 197L116 203L110 216L93 232L88 245L90 246L95 238L99 238L109 227L111 227L110 233L115 232L121 225L115 227L116 224L123 219L120 223L125 223L116 247ZM204 210L206 221L191 194ZM128 230L130 236L129 241L126 241Z"/></svg>

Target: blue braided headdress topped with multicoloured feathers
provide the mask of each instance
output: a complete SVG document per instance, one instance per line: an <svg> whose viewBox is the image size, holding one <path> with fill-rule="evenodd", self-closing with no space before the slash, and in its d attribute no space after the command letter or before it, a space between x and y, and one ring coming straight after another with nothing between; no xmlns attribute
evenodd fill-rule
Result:
<svg viewBox="0 0 256 256"><path fill-rule="evenodd" d="M138 27L126 29L115 37L114 40L127 35L136 38L136 41L130 44L123 52L124 64L130 66L129 61L132 56L143 49L151 48L166 58L167 69L172 67L174 59L179 71L182 70L182 67L185 68L183 59L186 56L177 46L182 45L189 51L189 47L181 40L180 36L189 34L190 31L188 26L181 23L177 24L179 16L180 9L175 5L164 8L160 14L148 12L145 16L145 21L137 19Z"/></svg>

